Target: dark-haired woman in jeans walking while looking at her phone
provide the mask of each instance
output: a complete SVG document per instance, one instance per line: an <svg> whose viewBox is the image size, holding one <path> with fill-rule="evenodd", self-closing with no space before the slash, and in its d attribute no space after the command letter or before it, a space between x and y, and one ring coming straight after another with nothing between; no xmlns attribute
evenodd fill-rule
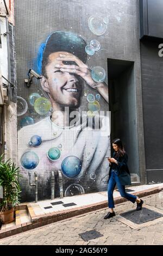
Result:
<svg viewBox="0 0 163 256"><path fill-rule="evenodd" d="M133 203L137 203L136 210L139 211L142 209L143 200L134 196L133 194L126 193L125 185L131 185L130 173L127 166L128 156L123 148L123 144L121 139L114 139L112 142L112 147L114 149L114 154L112 158L109 158L109 180L108 180L108 204L109 204L109 212L104 217L111 218L115 216L114 212L114 199L113 199L113 191L115 186L117 185L118 190L121 194L121 197L128 199Z"/></svg>

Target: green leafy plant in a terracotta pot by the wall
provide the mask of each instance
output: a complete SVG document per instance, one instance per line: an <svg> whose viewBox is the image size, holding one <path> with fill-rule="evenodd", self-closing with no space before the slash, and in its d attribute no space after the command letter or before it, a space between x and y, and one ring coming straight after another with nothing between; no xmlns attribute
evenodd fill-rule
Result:
<svg viewBox="0 0 163 256"><path fill-rule="evenodd" d="M18 198L21 192L18 183L18 167L11 159L3 161L0 156L0 186L3 187L3 198L0 199L0 218L3 224L14 221L14 208L19 203Z"/></svg>

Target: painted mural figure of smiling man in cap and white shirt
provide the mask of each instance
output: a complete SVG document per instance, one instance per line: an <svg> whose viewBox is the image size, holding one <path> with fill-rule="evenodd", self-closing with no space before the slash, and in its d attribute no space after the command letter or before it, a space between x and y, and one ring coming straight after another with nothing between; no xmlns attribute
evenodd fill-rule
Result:
<svg viewBox="0 0 163 256"><path fill-rule="evenodd" d="M85 40L72 32L54 32L46 41L41 86L48 99L42 100L42 108L50 102L51 115L18 132L23 200L34 199L29 171L37 172L39 199L51 197L51 172L57 170L61 170L64 196L106 190L109 120L104 115L97 115L96 119L93 113L100 106L93 94L87 95L92 115L80 115L78 108L85 83L107 103L108 86L93 79L91 69L85 64L85 47Z"/></svg>

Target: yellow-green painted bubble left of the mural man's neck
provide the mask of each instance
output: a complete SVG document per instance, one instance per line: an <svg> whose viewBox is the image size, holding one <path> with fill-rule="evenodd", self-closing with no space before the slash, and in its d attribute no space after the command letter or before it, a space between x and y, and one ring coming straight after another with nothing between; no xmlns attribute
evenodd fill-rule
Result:
<svg viewBox="0 0 163 256"><path fill-rule="evenodd" d="M51 101L46 99L46 97L39 97L39 99L35 100L34 109L39 115L47 114L51 107Z"/></svg>

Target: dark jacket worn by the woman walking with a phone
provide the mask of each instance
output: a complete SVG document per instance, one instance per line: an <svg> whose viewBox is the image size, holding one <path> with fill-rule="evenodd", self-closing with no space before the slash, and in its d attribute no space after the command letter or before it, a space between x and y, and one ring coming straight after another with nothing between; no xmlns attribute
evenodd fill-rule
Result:
<svg viewBox="0 0 163 256"><path fill-rule="evenodd" d="M114 158L115 154L116 153L114 152L114 154L112 155L113 158ZM129 169L127 166L127 160L128 160L127 153L125 153L123 156L119 156L117 158L118 177L119 177L122 185L131 185L131 178L130 178L130 172L129 172ZM109 164L109 166L110 166L110 170L111 170L111 164ZM110 170L109 170L109 179L110 179L110 175L111 175Z"/></svg>

